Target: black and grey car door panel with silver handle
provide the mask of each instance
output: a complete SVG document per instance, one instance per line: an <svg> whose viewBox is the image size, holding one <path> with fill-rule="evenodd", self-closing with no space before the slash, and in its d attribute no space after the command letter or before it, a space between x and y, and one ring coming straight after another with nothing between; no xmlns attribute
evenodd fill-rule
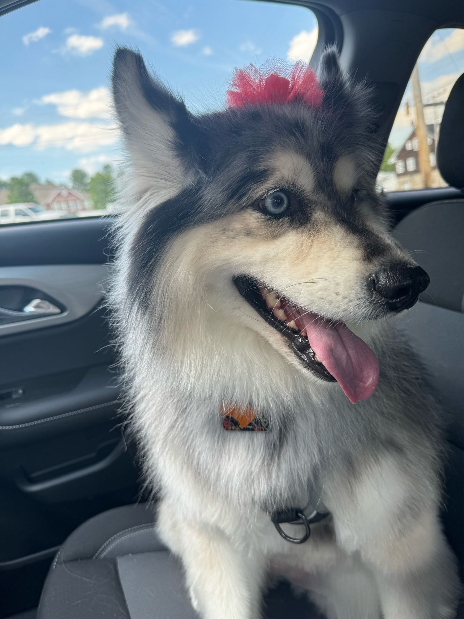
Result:
<svg viewBox="0 0 464 619"><path fill-rule="evenodd" d="M0 228L0 308L22 311L31 296L59 308L11 323L0 309L0 617L37 603L30 581L43 581L80 522L139 496L102 304L108 225L92 217Z"/></svg>

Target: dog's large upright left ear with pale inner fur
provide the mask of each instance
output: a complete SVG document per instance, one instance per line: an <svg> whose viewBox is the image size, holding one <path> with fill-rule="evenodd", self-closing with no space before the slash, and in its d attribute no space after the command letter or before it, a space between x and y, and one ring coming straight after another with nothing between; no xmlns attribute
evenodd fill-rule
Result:
<svg viewBox="0 0 464 619"><path fill-rule="evenodd" d="M202 166L204 139L194 116L181 98L148 73L140 54L118 48L111 84L127 150L147 189L150 180L158 188L160 183L165 188L179 184Z"/></svg>

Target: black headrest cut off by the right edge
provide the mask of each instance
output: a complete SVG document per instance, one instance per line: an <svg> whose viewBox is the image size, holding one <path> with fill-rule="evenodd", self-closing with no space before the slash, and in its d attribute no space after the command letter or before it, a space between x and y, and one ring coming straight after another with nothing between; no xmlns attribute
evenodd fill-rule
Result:
<svg viewBox="0 0 464 619"><path fill-rule="evenodd" d="M445 105L437 165L450 186L464 189L464 73L453 86Z"/></svg>

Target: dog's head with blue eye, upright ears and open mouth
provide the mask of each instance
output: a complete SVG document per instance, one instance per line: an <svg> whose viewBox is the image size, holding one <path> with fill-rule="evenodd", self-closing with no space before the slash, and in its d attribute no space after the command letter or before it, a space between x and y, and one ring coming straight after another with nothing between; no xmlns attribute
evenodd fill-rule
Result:
<svg viewBox="0 0 464 619"><path fill-rule="evenodd" d="M118 50L114 105L134 203L126 296L184 349L195 332L213 346L228 331L243 346L251 329L354 402L372 394L379 368L346 324L411 307L428 277L387 234L366 87L333 50L319 85L317 106L193 116L138 54Z"/></svg>

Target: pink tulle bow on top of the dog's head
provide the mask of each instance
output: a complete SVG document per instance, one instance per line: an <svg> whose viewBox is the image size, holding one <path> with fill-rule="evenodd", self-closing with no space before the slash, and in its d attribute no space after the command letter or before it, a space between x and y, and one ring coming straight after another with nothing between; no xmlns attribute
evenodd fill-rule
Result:
<svg viewBox="0 0 464 619"><path fill-rule="evenodd" d="M260 69L249 64L244 69L234 70L230 86L226 102L231 108L292 101L318 107L324 95L316 73L301 62L293 66L281 62Z"/></svg>

